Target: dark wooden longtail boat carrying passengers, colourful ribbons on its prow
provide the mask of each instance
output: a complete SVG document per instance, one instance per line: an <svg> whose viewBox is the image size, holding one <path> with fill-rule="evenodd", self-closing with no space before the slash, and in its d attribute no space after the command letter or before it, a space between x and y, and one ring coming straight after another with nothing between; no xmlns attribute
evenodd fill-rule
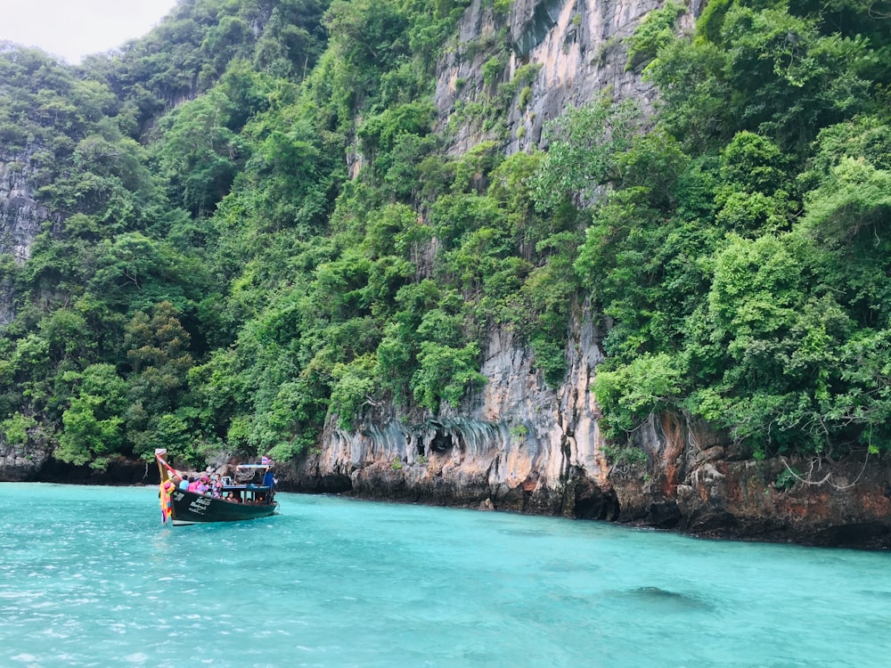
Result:
<svg viewBox="0 0 891 668"><path fill-rule="evenodd" d="M217 494L190 492L180 489L179 483L186 474L171 467L167 450L155 451L155 460L161 476L161 519L168 519L174 526L200 522L236 522L274 515L278 509L275 501L275 480L272 461L264 458L260 464L239 464L235 477L223 477Z"/></svg>

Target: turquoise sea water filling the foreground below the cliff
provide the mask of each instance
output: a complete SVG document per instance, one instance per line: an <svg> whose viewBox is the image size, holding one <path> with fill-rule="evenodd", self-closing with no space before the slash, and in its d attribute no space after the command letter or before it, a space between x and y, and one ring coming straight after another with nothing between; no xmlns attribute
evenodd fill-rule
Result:
<svg viewBox="0 0 891 668"><path fill-rule="evenodd" d="M0 666L887 666L891 554L279 494L0 485Z"/></svg>

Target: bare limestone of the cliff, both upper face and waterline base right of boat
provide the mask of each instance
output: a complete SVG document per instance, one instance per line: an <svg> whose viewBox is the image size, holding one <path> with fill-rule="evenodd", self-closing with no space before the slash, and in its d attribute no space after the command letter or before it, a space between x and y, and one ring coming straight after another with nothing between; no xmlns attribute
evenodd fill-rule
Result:
<svg viewBox="0 0 891 668"><path fill-rule="evenodd" d="M458 44L439 67L440 126L452 133L453 151L497 138L491 128L463 118L461 109L491 101L483 65L501 53L496 36L503 29L510 43L503 81L530 63L541 66L525 106L516 97L511 102L507 151L538 143L545 122L608 86L646 108L654 92L625 69L622 39L658 4L517 0L509 15L499 17L475 0L465 12ZM698 13L699 5L692 10ZM602 359L592 314L580 307L569 331L568 373L556 390L535 371L531 351L509 331L495 328L481 370L489 381L458 410L412 420L378 406L356 432L329 424L320 448L282 477L296 489L351 491L365 498L596 517L761 540L891 547L887 465L744 460L728 439L705 426L664 415L637 434L636 449L645 462L610 468L590 390ZM829 468L815 476L814 466ZM806 475L778 485L788 468Z"/></svg>

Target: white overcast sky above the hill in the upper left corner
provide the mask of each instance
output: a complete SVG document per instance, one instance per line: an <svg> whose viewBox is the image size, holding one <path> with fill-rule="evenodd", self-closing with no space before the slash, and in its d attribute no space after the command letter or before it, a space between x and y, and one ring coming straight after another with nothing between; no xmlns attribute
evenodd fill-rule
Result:
<svg viewBox="0 0 891 668"><path fill-rule="evenodd" d="M0 0L0 41L37 46L72 65L142 37L176 0Z"/></svg>

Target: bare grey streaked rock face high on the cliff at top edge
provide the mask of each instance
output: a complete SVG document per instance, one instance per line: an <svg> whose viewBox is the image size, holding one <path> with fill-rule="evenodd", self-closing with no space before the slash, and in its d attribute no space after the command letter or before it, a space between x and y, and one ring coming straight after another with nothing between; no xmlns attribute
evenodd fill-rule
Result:
<svg viewBox="0 0 891 668"><path fill-rule="evenodd" d="M660 0L516 0L507 16L498 16L474 0L464 15L458 44L437 72L439 129L454 134L454 153L503 139L497 130L485 130L462 116L469 104L494 103L493 86L486 86L483 79L484 65L492 58L503 58L499 83L513 81L529 64L540 68L527 94L521 98L525 86L518 86L509 102L508 153L538 145L547 121L601 91L634 98L649 110L656 93L639 74L625 69L623 40L662 4ZM502 30L510 45L506 57L499 40Z"/></svg>

